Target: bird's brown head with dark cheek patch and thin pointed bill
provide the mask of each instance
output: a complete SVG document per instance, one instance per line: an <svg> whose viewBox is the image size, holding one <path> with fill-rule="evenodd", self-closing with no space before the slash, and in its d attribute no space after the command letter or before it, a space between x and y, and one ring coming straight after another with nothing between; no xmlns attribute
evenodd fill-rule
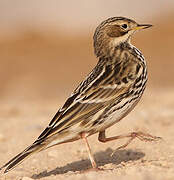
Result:
<svg viewBox="0 0 174 180"><path fill-rule="evenodd" d="M94 33L94 50L98 56L107 56L120 43L130 42L136 31L149 28L150 24L138 24L125 17L112 17L103 21Z"/></svg>

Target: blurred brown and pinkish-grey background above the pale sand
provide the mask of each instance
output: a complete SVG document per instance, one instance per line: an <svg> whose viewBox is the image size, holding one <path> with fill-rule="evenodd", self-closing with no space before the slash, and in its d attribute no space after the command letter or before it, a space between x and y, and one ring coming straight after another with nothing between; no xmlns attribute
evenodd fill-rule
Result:
<svg viewBox="0 0 174 180"><path fill-rule="evenodd" d="M172 88L173 0L0 0L1 101L63 101L97 63L93 33L111 16L154 25L132 42L148 62L149 88Z"/></svg>

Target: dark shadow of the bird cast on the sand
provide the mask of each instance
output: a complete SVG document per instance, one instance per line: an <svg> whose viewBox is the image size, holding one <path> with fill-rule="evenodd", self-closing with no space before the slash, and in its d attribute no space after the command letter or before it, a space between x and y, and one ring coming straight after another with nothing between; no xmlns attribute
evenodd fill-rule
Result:
<svg viewBox="0 0 174 180"><path fill-rule="evenodd" d="M133 151L131 149L118 150L114 153L113 156L111 156L112 153L113 153L113 150L111 148L108 148L105 151L99 151L99 152L95 153L94 157L96 159L97 165L99 167L104 166L106 164L110 164L110 163L118 165L121 162L136 161L145 156L145 154L143 152ZM65 174L70 171L82 172L89 168L91 168L91 163L88 159L85 159L85 160L72 162L63 167L57 167L51 171L45 170L39 174L34 174L32 176L32 178L40 179L40 178L48 177L51 175Z"/></svg>

